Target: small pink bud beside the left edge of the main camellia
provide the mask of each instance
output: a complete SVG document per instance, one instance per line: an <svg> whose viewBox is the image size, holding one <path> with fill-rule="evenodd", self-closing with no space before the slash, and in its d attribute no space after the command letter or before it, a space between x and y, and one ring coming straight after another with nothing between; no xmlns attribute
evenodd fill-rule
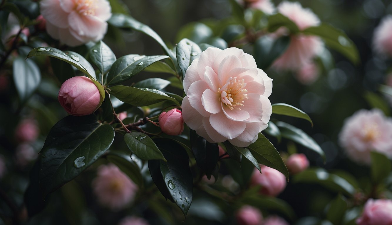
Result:
<svg viewBox="0 0 392 225"><path fill-rule="evenodd" d="M184 120L180 109L162 112L158 118L159 126L165 134L180 135L184 130Z"/></svg>

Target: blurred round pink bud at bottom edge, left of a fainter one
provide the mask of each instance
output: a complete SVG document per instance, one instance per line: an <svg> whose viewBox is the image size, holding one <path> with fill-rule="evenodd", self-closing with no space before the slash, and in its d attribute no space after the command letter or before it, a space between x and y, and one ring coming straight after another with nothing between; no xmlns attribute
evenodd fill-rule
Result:
<svg viewBox="0 0 392 225"><path fill-rule="evenodd" d="M261 225L263 214L258 208L244 205L237 211L236 218L238 225Z"/></svg>

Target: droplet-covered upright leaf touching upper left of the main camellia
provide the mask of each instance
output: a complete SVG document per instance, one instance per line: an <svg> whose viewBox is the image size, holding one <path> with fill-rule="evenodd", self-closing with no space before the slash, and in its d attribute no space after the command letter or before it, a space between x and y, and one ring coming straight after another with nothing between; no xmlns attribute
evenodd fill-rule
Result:
<svg viewBox="0 0 392 225"><path fill-rule="evenodd" d="M192 61L200 57L201 49L193 41L184 38L178 43L176 52L178 66L180 66L182 77L184 78L185 71L187 71Z"/></svg>

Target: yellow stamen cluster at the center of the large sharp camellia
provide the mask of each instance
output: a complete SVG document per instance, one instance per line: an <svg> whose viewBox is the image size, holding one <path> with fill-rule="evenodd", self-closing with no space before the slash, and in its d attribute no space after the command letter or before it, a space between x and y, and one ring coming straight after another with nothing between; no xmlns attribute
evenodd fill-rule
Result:
<svg viewBox="0 0 392 225"><path fill-rule="evenodd" d="M237 80L237 77L230 77L223 87L218 88L218 93L220 93L219 101L227 105L231 110L238 105L243 106L243 103L245 103L243 100L245 98L248 99L248 90L244 89L245 86L244 79ZM239 107L237 108L240 109Z"/></svg>

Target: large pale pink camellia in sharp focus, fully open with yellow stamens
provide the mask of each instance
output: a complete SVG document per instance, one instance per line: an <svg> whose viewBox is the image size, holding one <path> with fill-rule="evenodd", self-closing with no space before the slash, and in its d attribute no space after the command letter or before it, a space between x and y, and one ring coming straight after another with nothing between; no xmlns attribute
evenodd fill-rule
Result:
<svg viewBox="0 0 392 225"><path fill-rule="evenodd" d="M207 48L186 71L185 123L211 143L245 147L257 140L272 113L272 79L238 48Z"/></svg>

